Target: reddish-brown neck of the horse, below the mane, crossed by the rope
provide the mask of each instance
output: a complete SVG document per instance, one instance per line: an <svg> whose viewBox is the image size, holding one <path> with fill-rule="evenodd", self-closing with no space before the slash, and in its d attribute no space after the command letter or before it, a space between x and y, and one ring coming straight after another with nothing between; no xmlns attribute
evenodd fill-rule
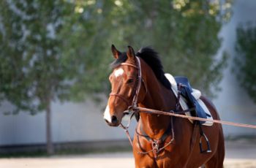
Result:
<svg viewBox="0 0 256 168"><path fill-rule="evenodd" d="M154 76L154 75L153 75ZM154 110L169 111L173 110L176 105L176 97L173 92L165 88L156 77L147 77L148 92L140 107L146 107ZM170 117L166 115L151 115L140 113L140 124L143 131L153 139L159 139L165 134L168 126L170 126Z"/></svg>

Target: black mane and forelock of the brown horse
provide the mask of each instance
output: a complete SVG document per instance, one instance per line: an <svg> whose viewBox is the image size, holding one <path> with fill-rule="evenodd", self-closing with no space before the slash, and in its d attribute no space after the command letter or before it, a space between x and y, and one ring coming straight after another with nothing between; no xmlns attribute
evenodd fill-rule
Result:
<svg viewBox="0 0 256 168"><path fill-rule="evenodd" d="M151 67L151 69L154 72L154 75L156 75L157 79L159 80L162 85L165 86L165 88L171 89L170 82L165 77L165 72L163 71L162 63L159 59L158 53L153 50L151 47L142 47L140 50L138 50L138 53L136 53L136 56L143 59L143 61L148 64L148 66ZM127 53L121 53L119 57L113 61L113 63L110 65L112 68L116 68L121 63L127 61Z"/></svg>

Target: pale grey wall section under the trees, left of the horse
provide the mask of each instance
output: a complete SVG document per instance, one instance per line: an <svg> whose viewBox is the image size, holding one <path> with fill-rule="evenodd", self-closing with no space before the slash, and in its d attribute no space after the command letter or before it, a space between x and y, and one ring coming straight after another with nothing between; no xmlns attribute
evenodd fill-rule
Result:
<svg viewBox="0 0 256 168"><path fill-rule="evenodd" d="M91 101L81 104L54 103L53 142L126 139L121 128L113 128L105 123L102 104ZM10 105L4 104L1 111L8 108L11 108ZM135 130L135 122L131 130ZM45 140L45 112L34 116L26 112L18 115L0 113L0 145L37 144Z"/></svg>

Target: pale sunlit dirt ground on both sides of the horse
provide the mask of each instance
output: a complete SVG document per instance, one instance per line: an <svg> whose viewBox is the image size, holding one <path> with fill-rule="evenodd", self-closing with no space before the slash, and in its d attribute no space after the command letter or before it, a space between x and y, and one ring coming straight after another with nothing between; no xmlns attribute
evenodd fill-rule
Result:
<svg viewBox="0 0 256 168"><path fill-rule="evenodd" d="M0 159L1 168L130 168L134 167L132 153L103 153L50 158ZM256 168L256 142L226 143L225 167Z"/></svg>

